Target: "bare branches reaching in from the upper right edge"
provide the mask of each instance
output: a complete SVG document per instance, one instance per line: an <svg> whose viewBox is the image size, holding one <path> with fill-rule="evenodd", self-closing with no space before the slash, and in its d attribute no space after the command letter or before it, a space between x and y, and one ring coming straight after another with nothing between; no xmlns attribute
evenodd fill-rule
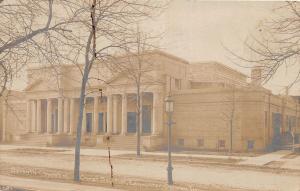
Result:
<svg viewBox="0 0 300 191"><path fill-rule="evenodd" d="M270 80L281 66L299 65L300 59L300 2L282 2L281 6L273 9L273 13L271 18L261 21L257 31L245 40L245 50L249 56L242 56L226 47L238 58L238 62L245 62L238 65L261 68L264 83ZM289 86L297 83L299 77L300 70Z"/></svg>

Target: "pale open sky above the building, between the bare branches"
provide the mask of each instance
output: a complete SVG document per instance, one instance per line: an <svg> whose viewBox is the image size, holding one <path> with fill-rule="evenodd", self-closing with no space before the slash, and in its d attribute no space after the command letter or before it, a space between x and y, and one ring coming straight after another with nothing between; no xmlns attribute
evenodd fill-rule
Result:
<svg viewBox="0 0 300 191"><path fill-rule="evenodd" d="M244 74L250 69L234 64L227 47L241 56L248 56L243 42L257 32L262 20L272 18L274 8L283 2L272 1L201 1L172 0L163 14L144 23L148 32L159 33L163 51L190 62L218 61ZM300 69L300 68L299 68ZM265 86L274 93L283 93L284 86L295 79L295 68L284 67ZM26 86L18 79L17 89ZM291 94L300 94L299 87Z"/></svg>

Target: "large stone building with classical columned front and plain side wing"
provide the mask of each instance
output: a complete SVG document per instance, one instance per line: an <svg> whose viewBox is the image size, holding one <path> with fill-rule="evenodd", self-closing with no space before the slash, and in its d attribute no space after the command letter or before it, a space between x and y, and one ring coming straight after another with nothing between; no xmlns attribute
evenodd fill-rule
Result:
<svg viewBox="0 0 300 191"><path fill-rule="evenodd" d="M131 62L132 56L116 58ZM131 58L131 59L128 59ZM167 146L165 97L174 100L173 145L185 150L265 151L299 141L299 99L273 95L260 85L261 71L247 76L218 62L189 63L161 51L143 54L142 148ZM111 63L110 63L111 64ZM91 70L82 125L82 145L136 148L136 84L130 71L110 64ZM27 69L24 91L1 100L0 136L7 144L71 146L79 115L82 65Z"/></svg>

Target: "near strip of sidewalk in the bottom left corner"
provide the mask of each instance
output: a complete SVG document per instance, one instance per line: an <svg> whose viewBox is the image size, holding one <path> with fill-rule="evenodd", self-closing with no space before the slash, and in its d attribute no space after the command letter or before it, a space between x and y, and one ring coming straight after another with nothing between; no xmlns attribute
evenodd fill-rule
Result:
<svg viewBox="0 0 300 191"><path fill-rule="evenodd" d="M16 178L0 175L0 185L41 191L121 191L119 189L86 186L80 184L51 182L36 179Z"/></svg>

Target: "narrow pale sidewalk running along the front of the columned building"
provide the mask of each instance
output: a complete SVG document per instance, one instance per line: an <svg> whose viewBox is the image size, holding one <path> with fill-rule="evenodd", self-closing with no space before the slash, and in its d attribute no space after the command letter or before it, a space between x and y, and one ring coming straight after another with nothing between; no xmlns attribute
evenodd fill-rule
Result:
<svg viewBox="0 0 300 191"><path fill-rule="evenodd" d="M57 154L74 155L75 149L73 147L39 147L39 146L22 146L22 145L0 145L0 150L15 150L15 149L41 149L41 150L53 150L58 151ZM107 150L97 148L81 148L81 156L99 156L107 157ZM236 159L241 160L238 165L250 165L250 166L265 166L271 162L280 163L281 168L300 170L300 156L296 156L293 159L284 158L291 154L289 150L281 150L272 153L266 153L259 156L225 156L214 154L186 154L186 153L172 153L174 157L186 157L186 158L199 158L199 159ZM136 154L135 151L129 150L111 150L111 156L122 156ZM167 152L142 152L144 156L165 156Z"/></svg>

